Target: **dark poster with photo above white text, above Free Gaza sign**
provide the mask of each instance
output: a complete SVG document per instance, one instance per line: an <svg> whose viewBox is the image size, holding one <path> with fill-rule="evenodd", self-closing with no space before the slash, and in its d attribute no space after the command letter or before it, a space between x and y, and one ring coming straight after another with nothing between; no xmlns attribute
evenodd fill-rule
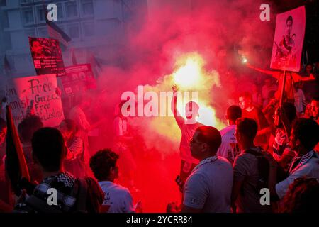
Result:
<svg viewBox="0 0 319 227"><path fill-rule="evenodd" d="M65 75L59 40L29 37L29 44L35 72L38 75L56 74L57 77Z"/></svg>

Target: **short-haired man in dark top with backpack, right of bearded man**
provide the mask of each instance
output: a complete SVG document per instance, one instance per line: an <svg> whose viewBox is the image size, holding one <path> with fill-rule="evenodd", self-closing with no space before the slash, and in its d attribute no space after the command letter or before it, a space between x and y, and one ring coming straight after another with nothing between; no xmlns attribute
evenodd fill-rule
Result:
<svg viewBox="0 0 319 227"><path fill-rule="evenodd" d="M267 179L263 179L262 149L254 145L257 134L257 123L250 118L238 118L235 137L241 150L233 164L234 180L232 190L233 212L268 213L272 206L260 204L259 192L267 187ZM265 160L265 159L263 159ZM267 160L265 160L267 162ZM268 167L264 165L265 169Z"/></svg>

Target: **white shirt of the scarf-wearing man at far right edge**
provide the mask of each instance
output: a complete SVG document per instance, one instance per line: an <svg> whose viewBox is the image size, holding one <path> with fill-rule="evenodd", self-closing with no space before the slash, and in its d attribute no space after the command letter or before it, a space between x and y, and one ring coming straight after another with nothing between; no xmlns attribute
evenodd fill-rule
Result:
<svg viewBox="0 0 319 227"><path fill-rule="evenodd" d="M305 158L305 157L310 158ZM306 162L301 165L301 162ZM310 151L301 157L301 162L289 173L289 177L282 182L276 184L276 193L282 199L289 189L289 185L293 183L296 178L300 177L313 177L319 180L319 155L315 151Z"/></svg>

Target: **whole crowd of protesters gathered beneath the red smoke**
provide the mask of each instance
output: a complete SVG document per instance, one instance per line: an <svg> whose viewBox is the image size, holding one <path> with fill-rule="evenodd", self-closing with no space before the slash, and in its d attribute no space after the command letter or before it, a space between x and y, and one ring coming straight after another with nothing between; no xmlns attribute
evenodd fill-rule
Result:
<svg viewBox="0 0 319 227"><path fill-rule="evenodd" d="M279 74L267 70L254 70ZM238 96L238 106L225 111L228 126L218 131L193 121L200 106L186 104L186 120L177 111L173 87L172 111L181 130L181 204L167 212L280 213L319 211L319 97L303 90L303 82L318 78L318 67L290 74L284 92L264 79L262 87ZM313 75L315 73L315 77ZM294 79L293 79L294 78ZM259 92L261 91L261 92ZM282 94L282 96L281 96ZM30 172L30 182L13 185L6 175L6 121L0 118L0 211L22 213L142 212L133 204L134 157L127 119L116 106L113 148L88 150L88 131L94 128L84 110L90 101L79 99L69 118L56 128L43 127L32 111L18 125ZM91 156L91 157L90 157ZM119 169L123 170L122 177ZM116 183L120 178L121 184ZM57 204L48 204L48 189L57 190ZM263 190L269 198L262 202ZM265 204L266 203L266 204Z"/></svg>

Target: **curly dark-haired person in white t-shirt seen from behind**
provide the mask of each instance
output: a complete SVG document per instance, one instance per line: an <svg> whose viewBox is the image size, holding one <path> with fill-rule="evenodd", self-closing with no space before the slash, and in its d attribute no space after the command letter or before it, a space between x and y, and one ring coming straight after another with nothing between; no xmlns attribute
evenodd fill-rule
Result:
<svg viewBox="0 0 319 227"><path fill-rule="evenodd" d="M91 157L90 167L94 177L99 181L105 196L101 212L131 213L135 212L130 191L115 184L118 178L118 155L111 150L99 150Z"/></svg>

